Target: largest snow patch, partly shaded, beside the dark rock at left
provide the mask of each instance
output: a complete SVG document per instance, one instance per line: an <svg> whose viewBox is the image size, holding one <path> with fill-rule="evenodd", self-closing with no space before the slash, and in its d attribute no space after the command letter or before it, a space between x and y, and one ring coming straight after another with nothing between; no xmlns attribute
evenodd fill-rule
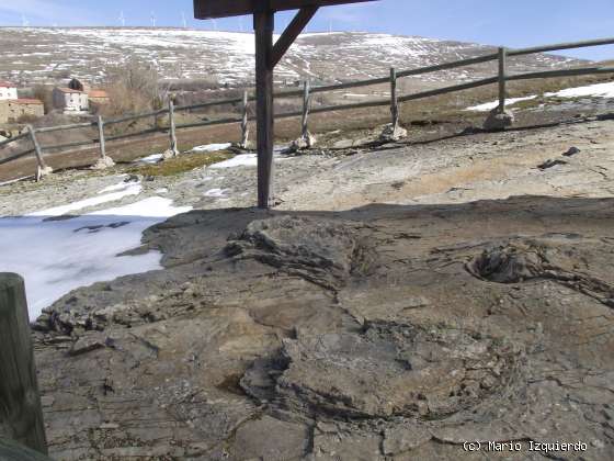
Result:
<svg viewBox="0 0 614 461"><path fill-rule="evenodd" d="M161 269L158 251L117 255L137 248L146 228L190 210L155 196L70 220L45 221L42 212L0 218L0 271L24 277L33 321L79 286Z"/></svg>

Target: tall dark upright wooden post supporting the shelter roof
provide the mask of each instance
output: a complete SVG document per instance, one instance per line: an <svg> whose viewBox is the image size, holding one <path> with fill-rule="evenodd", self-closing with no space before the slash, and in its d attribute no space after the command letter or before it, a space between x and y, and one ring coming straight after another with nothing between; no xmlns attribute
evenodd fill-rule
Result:
<svg viewBox="0 0 614 461"><path fill-rule="evenodd" d="M274 13L269 2L257 2L253 15L255 30L255 98L258 137L258 207L269 209L273 195L273 49Z"/></svg>

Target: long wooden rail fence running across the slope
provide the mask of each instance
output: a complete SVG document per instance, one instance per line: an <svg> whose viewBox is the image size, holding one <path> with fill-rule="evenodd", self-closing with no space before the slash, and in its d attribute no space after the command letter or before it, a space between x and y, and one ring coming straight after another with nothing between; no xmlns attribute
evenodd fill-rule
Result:
<svg viewBox="0 0 614 461"><path fill-rule="evenodd" d="M398 104L408 102L408 101L416 101L420 99L431 98L440 94L453 93L457 91L463 91L471 88L484 87L488 85L499 85L499 110L503 111L505 108L505 98L507 98L507 83L509 81L518 81L518 80L528 80L528 79L545 79L545 78L554 78L554 77L575 77L575 76L587 76L587 75L599 75L599 74L614 74L614 67L582 67L582 68L573 68L573 69L559 69L559 70L545 70L545 71L536 71L536 72L525 72L525 74L518 74L518 75L508 75L507 72L507 60L508 57L514 56L524 56L531 55L536 53L546 53L546 52L555 52L555 50L562 50L562 49L571 49L571 48L583 48L589 46L599 46L599 45L612 45L614 44L614 38L600 38L600 40L592 40L592 41L583 41L583 42L573 42L573 43L559 43L554 45L546 45L546 46L537 46L531 48L522 48L522 49L509 49L509 48L499 48L497 53L477 56L468 59L461 59L452 63L444 63L434 66L421 67L417 69L409 69L409 70L401 70L398 71L395 68L390 69L389 77L382 77L382 78L374 78L367 80L360 80L360 81L351 81L345 83L338 83L338 85L329 85L322 87L314 87L309 86L309 82L305 82L302 90L294 90L294 91L283 91L275 93L275 98L302 98L303 99L303 109L300 111L295 112L285 112L275 114L275 119L288 119L288 117L300 117L302 120L302 130L300 133L303 136L307 136L308 133L308 117L309 114L319 114L325 112L334 112L334 111L349 111L349 110L357 110L357 109L366 109L366 108L377 108L377 106L390 106L391 112L391 122L394 125L398 125L399 123L399 110ZM454 86L448 86L444 88L437 88L434 90L422 91L412 94L399 95L397 91L397 81L403 77L412 77L419 76L423 74L430 74L441 70L450 70L455 69L458 67L464 66L471 66L488 61L498 60L499 63L499 72L494 77L484 78L480 80L474 80L466 83L459 83ZM383 85L389 83L390 85L390 97L386 99L376 99L371 101L357 102L357 103L350 103L350 104L340 104L340 105L327 105L320 108L310 108L311 95L316 93L322 92L330 92L337 90L344 90L351 88L359 88L359 87L368 87L373 85ZM105 157L105 143L127 139L130 137L137 136L145 136L155 133L168 133L169 134L169 148L173 151L178 151L178 144L177 144L177 131L178 130L186 130L186 128L195 128L195 127L205 127L205 126L213 126L213 125L223 125L223 124L240 124L241 128L241 144L245 146L248 142L248 130L249 130L249 121L255 120L253 116L249 116L249 103L254 101L255 97L250 95L248 91L246 91L242 98L234 98L234 99L225 99L219 101L211 101L200 104L192 104L192 105L182 105L175 106L172 101L169 102L168 108L161 109L154 112L146 112L140 114L127 115L120 119L112 119L112 120L103 120L102 116L98 116L95 120L86 123L76 123L71 125L59 125L59 126L49 126L49 127L41 127L34 128L32 125L27 126L27 130L10 139L0 142L0 147L5 147L11 143L15 143L21 139L30 138L31 140L31 148L21 151L19 154L11 155L10 157L3 158L0 160L0 165L13 161L15 159L29 156L34 154L36 157L37 162L37 175L41 171L45 171L47 168L44 159L44 154L47 151L61 151L66 149L72 149L76 147L84 147L84 146L95 146L99 145L100 147L100 155L102 158ZM175 113L182 111L193 111L198 109L206 109L206 108L214 108L220 105L228 105L228 104L240 104L241 105L241 115L236 117L226 117L226 119L218 119L212 121L202 121L202 122L192 122L192 123L175 123ZM159 126L158 122L160 117L167 117L168 122L166 126ZM125 123L125 122L133 122L136 120L143 119L152 119L154 120L154 127L141 130L139 132L134 133L124 133L120 135L109 136L105 134L105 126ZM98 137L88 140L79 140L79 142L71 142L65 144L56 144L56 145L41 145L38 142L37 135L44 133L53 133L53 132L60 132L60 131L69 131L69 130L78 130L78 128L86 128L86 127L98 127Z"/></svg>

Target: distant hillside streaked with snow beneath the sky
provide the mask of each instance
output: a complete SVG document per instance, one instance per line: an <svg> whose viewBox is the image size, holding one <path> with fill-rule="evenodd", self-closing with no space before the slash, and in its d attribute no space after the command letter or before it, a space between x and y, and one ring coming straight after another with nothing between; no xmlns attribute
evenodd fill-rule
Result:
<svg viewBox="0 0 614 461"><path fill-rule="evenodd" d="M253 37L247 33L180 29L0 29L0 79L22 85L67 77L100 81L105 68L137 55L155 63L168 79L215 79L240 85L252 80ZM276 70L280 82L309 78L348 81L386 75L389 66L414 68L491 53L470 43L369 33L304 34ZM511 71L579 64L553 55L510 60ZM492 74L492 64L421 77L422 81L464 80Z"/></svg>

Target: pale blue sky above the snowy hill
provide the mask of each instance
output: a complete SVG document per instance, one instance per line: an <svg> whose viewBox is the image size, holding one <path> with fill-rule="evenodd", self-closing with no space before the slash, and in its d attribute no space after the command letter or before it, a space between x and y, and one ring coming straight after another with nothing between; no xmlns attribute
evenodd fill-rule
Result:
<svg viewBox="0 0 614 461"><path fill-rule="evenodd" d="M192 0L0 0L0 25L181 26L249 31L250 18L192 19ZM10 4L5 4L10 3ZM289 13L280 13L285 25ZM421 35L511 47L614 36L613 0L380 0L321 9L309 31L371 31ZM614 58L614 47L566 52L591 59Z"/></svg>

